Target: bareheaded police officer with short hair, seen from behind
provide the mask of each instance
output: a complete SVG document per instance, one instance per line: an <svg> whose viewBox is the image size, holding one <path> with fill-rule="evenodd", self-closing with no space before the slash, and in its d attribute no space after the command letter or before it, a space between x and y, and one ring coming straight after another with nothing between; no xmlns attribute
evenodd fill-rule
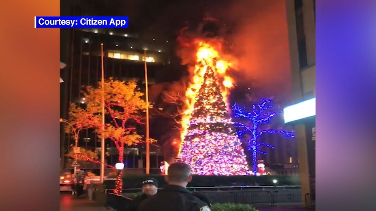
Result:
<svg viewBox="0 0 376 211"><path fill-rule="evenodd" d="M209 203L186 189L192 181L190 166L185 163L171 164L166 181L168 185L141 202L137 211L211 211Z"/></svg>

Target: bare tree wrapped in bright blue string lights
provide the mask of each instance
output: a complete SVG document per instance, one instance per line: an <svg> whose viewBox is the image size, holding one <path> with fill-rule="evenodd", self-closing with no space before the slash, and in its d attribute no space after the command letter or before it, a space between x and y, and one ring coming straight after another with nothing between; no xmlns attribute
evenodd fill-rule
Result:
<svg viewBox="0 0 376 211"><path fill-rule="evenodd" d="M234 118L240 119L247 119L251 122L251 124L244 124L242 122L235 122L235 127L241 128L242 130L238 131L239 137L243 137L244 133L249 132L252 134L252 138L247 141L247 148L252 152L252 171L257 173L257 154L268 154L267 152L263 152L259 150L259 146L266 146L270 148L274 148L272 145L268 145L266 143L258 143L258 137L260 137L264 133L280 133L283 134L287 138L295 137L293 132L287 132L283 130L261 130L261 126L263 124L268 124L274 116L277 114L282 113L282 111L270 111L274 109L275 105L270 105L273 102L271 99L261 99L261 103L254 104L252 106L252 111L245 111L245 107L239 107L237 103L235 103L232 107Z"/></svg>

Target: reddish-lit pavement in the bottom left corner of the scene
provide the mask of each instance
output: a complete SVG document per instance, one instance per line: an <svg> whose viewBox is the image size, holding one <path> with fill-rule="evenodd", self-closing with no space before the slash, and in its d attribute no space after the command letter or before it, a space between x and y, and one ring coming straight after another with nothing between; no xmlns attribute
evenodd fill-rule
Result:
<svg viewBox="0 0 376 211"><path fill-rule="evenodd" d="M106 208L88 199L77 199L76 196L60 195L60 211L106 211Z"/></svg>

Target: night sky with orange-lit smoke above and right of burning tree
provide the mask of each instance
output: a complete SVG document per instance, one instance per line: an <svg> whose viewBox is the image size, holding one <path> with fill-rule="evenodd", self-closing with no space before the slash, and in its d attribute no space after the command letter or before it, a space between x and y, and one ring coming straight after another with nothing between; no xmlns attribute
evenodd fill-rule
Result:
<svg viewBox="0 0 376 211"><path fill-rule="evenodd" d="M291 68L284 1L252 0L80 0L83 15L129 16L129 29L173 40L189 21L195 28L203 17L218 18L230 28L226 39L235 44L240 70L231 99L250 93L254 99L278 96L288 103ZM240 52L240 53L239 53ZM239 55L239 56L238 56ZM248 90L250 88L251 90Z"/></svg>

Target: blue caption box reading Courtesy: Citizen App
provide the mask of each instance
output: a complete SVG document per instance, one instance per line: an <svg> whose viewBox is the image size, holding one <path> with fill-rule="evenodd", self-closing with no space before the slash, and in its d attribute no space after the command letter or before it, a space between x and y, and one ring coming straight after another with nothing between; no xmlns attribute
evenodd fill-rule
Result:
<svg viewBox="0 0 376 211"><path fill-rule="evenodd" d="M35 28L128 28L128 17L34 17Z"/></svg>

